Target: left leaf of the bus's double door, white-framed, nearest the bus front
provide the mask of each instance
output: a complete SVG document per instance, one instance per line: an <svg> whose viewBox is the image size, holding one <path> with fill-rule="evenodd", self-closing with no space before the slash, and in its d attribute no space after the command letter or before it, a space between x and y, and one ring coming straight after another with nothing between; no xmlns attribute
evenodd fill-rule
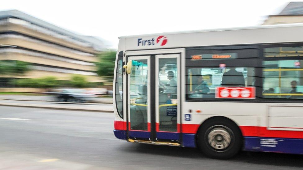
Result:
<svg viewBox="0 0 303 170"><path fill-rule="evenodd" d="M129 65L130 63L130 65ZM150 56L128 57L128 138L151 139Z"/></svg>

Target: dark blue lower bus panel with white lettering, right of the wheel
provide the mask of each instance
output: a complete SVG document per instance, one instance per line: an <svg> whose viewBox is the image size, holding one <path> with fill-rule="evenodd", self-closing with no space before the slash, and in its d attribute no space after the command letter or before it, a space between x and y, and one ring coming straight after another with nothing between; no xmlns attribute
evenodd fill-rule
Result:
<svg viewBox="0 0 303 170"><path fill-rule="evenodd" d="M244 139L243 150L303 154L303 139L273 137L244 137Z"/></svg>

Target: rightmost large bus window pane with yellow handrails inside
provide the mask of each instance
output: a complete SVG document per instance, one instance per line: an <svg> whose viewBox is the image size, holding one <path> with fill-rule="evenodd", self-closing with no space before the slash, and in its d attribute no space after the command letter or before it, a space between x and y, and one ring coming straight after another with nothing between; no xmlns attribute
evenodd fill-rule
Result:
<svg viewBox="0 0 303 170"><path fill-rule="evenodd" d="M263 62L263 97L303 99L303 60Z"/></svg>

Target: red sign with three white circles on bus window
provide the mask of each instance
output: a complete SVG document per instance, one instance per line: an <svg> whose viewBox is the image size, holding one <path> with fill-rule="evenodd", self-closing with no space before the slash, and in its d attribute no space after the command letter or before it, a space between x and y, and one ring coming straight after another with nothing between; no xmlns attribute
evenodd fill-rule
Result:
<svg viewBox="0 0 303 170"><path fill-rule="evenodd" d="M256 98L256 88L216 87L215 98Z"/></svg>

